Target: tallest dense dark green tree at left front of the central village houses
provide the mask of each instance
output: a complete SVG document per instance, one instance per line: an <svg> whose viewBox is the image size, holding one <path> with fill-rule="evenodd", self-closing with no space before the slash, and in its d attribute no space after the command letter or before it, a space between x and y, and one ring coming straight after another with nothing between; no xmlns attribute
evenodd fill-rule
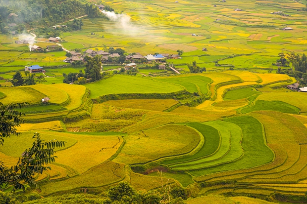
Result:
<svg viewBox="0 0 307 204"><path fill-rule="evenodd" d="M98 81L102 78L100 74L102 62L101 57L96 55L95 57L87 57L87 62L85 63L85 77L91 79L92 82Z"/></svg>

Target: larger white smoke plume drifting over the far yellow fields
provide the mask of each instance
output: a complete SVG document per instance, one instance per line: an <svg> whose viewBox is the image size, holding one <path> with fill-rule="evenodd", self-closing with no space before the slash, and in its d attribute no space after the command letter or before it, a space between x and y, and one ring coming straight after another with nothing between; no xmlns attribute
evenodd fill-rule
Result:
<svg viewBox="0 0 307 204"><path fill-rule="evenodd" d="M131 34L131 33L138 33L140 30L140 27L134 25L130 21L130 16L126 14L119 14L115 13L114 11L105 11L102 10L102 13L108 17L111 21L117 22L121 29L126 33L126 34Z"/></svg>

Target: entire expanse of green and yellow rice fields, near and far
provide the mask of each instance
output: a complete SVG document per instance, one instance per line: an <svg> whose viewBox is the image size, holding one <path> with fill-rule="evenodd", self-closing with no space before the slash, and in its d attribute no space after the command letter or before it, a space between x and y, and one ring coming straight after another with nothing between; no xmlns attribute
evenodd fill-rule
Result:
<svg viewBox="0 0 307 204"><path fill-rule="evenodd" d="M182 185L193 197L210 194L187 204L269 204L229 195L304 198L307 95L285 89L295 79L275 74L272 63L282 50L306 50L305 5L292 0L102 3L130 16L129 32L118 21L86 18L81 31L62 34L66 48L105 45L144 55L182 49L181 59L167 60L182 74L121 74L71 85L61 83L62 73L84 68L68 67L47 69L46 84L1 87L1 103L30 103L22 109L27 116L17 128L20 136L5 139L0 147L1 161L16 163L38 131L45 140L66 142L56 149L52 170L37 176L41 186L35 191L43 196L84 189L101 193L122 180L151 190L159 187L156 171L162 170L163 179ZM276 10L290 15L270 14ZM285 25L294 30L281 30ZM10 37L0 35L0 41L4 78L28 64L63 64L65 52L28 53ZM187 74L186 64L193 61L207 72ZM43 106L47 96L50 104Z"/></svg>

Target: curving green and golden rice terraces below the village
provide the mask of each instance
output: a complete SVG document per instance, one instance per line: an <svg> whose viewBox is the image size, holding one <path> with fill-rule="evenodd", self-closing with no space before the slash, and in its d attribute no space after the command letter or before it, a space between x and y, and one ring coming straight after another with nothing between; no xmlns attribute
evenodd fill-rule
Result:
<svg viewBox="0 0 307 204"><path fill-rule="evenodd" d="M18 127L22 131L22 140L12 137L5 141L7 147L14 144L14 148L3 146L0 154L3 161L13 163L22 150L31 144L34 131L39 131L45 140L56 138L66 141L66 146L56 152L58 158L51 166L52 170L37 178L43 182L42 195L71 192L78 188L99 188L124 178L129 178L138 189L151 189L155 185L148 182L157 179L155 168L165 170L163 177L171 179L171 182L181 183L187 188L199 186L199 195L252 192L262 196L269 196L272 192L301 195L305 184L298 182L307 179L307 127L304 125L307 120L299 115L304 105L296 104L291 98L267 98L270 94L273 98L278 94L292 94L303 100L304 95L266 86L256 89L250 83L260 81L254 77L249 82L249 75L246 72L231 75L229 72L153 80L130 76L109 78L125 84L121 89L115 88L120 86L115 86L113 81L102 81L103 86L100 84L102 82L88 84L95 97L112 91L125 94L125 90L129 90L126 91L129 94L180 90L193 93L192 87L196 87L200 96L193 97L213 97L196 108L184 106L174 99L123 99L92 104L89 97L94 97L89 95L85 86L31 86L35 89L30 90L45 91L44 94L55 98L56 103L63 104L65 110L57 111L54 108L48 113L52 122L42 121L43 117L46 118L45 113L28 115L27 120L33 118L42 122L25 123ZM273 78L275 83L284 79L283 76L280 80L275 76ZM132 85L136 82L143 83ZM147 83L146 86L143 86L144 83ZM55 87L58 94L51 93L50 87ZM95 87L101 88L95 90ZM9 88L3 89L4 93ZM225 90L228 90L226 94ZM192 100L193 97L180 100ZM49 106L52 105L42 107ZM240 112L236 110L238 106L243 107L238 109ZM170 107L174 107L174 110L162 112ZM56 120L58 116L78 117L82 112L89 114L83 120ZM88 157L91 159L85 160ZM124 169L128 166L135 172L127 174ZM102 176L95 178L98 171ZM85 178L89 179L86 183L82 182ZM206 185L203 187L195 184L204 181ZM226 184L220 185L224 181ZM233 181L236 183L227 183Z"/></svg>

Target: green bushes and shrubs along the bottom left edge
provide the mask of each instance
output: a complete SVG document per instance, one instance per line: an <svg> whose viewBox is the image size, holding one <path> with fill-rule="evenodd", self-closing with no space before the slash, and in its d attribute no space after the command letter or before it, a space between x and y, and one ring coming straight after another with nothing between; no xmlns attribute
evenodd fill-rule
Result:
<svg viewBox="0 0 307 204"><path fill-rule="evenodd" d="M158 190L136 191L127 182L110 187L107 195L66 194L41 199L37 193L21 196L0 192L0 204L184 204L183 198L186 192L182 187L171 189L166 185Z"/></svg>

